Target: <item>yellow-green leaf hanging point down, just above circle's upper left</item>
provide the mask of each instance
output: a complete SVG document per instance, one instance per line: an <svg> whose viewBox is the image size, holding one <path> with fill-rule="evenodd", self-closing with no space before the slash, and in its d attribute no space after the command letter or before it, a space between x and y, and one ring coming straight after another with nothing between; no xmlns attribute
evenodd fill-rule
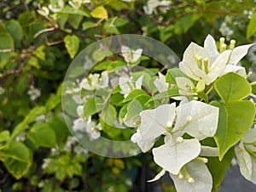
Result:
<svg viewBox="0 0 256 192"><path fill-rule="evenodd" d="M79 51L79 37L67 35L64 37L64 43L70 58L73 59Z"/></svg>

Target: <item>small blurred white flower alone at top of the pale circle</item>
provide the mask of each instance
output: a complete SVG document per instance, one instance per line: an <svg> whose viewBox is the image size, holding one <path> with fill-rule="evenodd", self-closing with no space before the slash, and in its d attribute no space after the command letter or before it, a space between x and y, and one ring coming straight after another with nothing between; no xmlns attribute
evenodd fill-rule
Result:
<svg viewBox="0 0 256 192"><path fill-rule="evenodd" d="M140 59L140 57L143 54L143 49L138 48L136 50L132 50L131 48L128 48L127 46L122 45L121 53L122 53L126 63L132 64L132 63L136 63L137 60Z"/></svg>

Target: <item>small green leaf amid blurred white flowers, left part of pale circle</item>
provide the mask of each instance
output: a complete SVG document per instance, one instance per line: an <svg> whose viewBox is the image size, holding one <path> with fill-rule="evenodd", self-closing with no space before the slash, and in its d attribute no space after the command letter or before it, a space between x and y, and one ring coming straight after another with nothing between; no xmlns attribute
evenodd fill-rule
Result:
<svg viewBox="0 0 256 192"><path fill-rule="evenodd" d="M84 116L92 116L102 109L103 100L101 98L91 98L84 104Z"/></svg>

